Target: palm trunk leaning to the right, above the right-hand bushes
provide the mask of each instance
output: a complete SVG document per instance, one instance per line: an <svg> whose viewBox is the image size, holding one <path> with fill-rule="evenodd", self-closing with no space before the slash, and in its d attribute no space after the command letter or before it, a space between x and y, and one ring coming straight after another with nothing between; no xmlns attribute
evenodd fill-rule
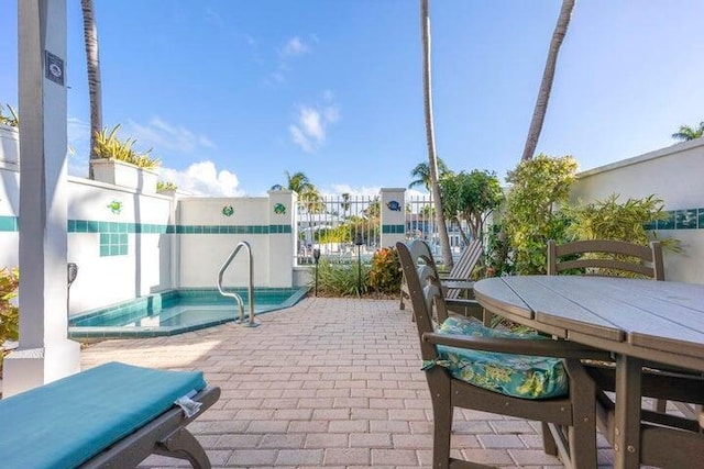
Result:
<svg viewBox="0 0 704 469"><path fill-rule="evenodd" d="M530 120L530 129L528 129L528 137L526 138L526 146L524 147L521 160L532 158L532 155L536 153L536 146L538 146L538 138L540 138L540 132L542 131L542 122L544 121L546 112L548 111L548 101L550 100L550 91L552 90L552 80L554 79L558 54L560 53L562 41L568 33L568 26L570 25L570 19L572 18L572 10L574 9L574 1L575 0L562 0L560 16L558 16L558 24L556 24L554 31L552 32L550 49L548 51L548 59L542 72L542 81L540 82L540 90L538 91L538 100L536 101L536 108L532 111L532 119Z"/></svg>

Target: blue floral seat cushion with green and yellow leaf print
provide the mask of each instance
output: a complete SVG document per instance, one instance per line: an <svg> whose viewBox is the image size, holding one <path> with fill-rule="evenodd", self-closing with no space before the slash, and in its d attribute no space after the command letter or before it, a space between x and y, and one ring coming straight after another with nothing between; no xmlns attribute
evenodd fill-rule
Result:
<svg viewBox="0 0 704 469"><path fill-rule="evenodd" d="M438 334L473 335L502 338L542 338L535 333L493 330L474 319L448 317ZM439 358L424 361L422 369L441 366L454 378L470 384L524 399L548 399L568 393L568 376L560 358L498 354L458 347L438 346Z"/></svg>

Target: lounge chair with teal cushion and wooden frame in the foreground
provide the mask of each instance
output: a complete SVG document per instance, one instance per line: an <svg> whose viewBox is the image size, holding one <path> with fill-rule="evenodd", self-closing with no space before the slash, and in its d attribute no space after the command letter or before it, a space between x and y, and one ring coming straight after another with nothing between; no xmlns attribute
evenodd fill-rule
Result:
<svg viewBox="0 0 704 469"><path fill-rule="evenodd" d="M199 371L102 365L0 400L0 461L3 468L125 468L160 454L210 468L185 427L219 397Z"/></svg>

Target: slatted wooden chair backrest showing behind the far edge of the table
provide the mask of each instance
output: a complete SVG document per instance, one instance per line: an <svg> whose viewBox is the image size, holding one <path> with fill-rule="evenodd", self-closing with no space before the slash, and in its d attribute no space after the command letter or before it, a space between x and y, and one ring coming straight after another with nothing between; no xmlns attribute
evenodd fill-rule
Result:
<svg viewBox="0 0 704 469"><path fill-rule="evenodd" d="M562 257L568 259L562 260ZM548 275L553 276L571 269L587 269L586 275L602 276L613 275L614 271L631 272L654 280L664 280L662 246L659 242L641 246L616 239L576 241L558 245L550 239Z"/></svg>

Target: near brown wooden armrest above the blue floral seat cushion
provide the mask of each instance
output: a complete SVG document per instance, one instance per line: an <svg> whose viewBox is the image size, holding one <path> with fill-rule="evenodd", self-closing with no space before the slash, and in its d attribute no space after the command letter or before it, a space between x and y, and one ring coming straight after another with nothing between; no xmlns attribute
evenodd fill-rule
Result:
<svg viewBox="0 0 704 469"><path fill-rule="evenodd" d="M447 345L449 347L496 351L501 354L518 354L557 358L584 358L593 360L610 359L610 354L608 351L569 340L477 337L438 333L425 333L422 335L422 339L435 345Z"/></svg>

